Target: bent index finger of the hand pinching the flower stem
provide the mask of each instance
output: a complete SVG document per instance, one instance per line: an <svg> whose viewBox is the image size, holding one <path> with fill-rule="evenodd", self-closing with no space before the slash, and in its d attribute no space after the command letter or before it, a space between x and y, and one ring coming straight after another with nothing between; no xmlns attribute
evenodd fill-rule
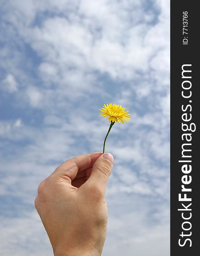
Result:
<svg viewBox="0 0 200 256"><path fill-rule="evenodd" d="M55 169L54 174L65 175L69 177L70 180L73 180L76 177L77 172L81 172L88 168L91 168L101 154L103 153L94 152L91 154L80 155L66 160Z"/></svg>

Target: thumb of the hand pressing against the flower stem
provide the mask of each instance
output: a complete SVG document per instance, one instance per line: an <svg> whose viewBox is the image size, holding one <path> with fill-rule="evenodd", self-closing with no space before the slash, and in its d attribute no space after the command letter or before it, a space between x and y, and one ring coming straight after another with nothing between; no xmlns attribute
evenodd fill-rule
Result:
<svg viewBox="0 0 200 256"><path fill-rule="evenodd" d="M98 190L105 193L113 162L114 157L111 154L106 153L100 155L94 162L89 179L83 185L86 186L87 189L96 187Z"/></svg>

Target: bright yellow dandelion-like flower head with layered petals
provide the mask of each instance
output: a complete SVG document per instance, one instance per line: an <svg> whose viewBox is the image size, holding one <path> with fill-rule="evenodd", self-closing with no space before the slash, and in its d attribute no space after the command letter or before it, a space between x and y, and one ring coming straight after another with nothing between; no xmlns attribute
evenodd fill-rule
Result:
<svg viewBox="0 0 200 256"><path fill-rule="evenodd" d="M128 122L130 120L130 114L127 114L129 111L126 111L126 108L123 108L121 105L115 105L115 104L104 104L103 108L100 108L99 110L101 115L103 117L107 117L107 120L109 122Z"/></svg>

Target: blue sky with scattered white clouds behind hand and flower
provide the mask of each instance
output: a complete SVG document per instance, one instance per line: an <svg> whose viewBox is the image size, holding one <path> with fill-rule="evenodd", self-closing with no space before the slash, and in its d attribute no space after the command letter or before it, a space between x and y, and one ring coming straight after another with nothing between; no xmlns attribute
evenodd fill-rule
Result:
<svg viewBox="0 0 200 256"><path fill-rule="evenodd" d="M169 256L169 0L0 0L0 254L53 255L34 209L64 160L101 151L126 107L103 256Z"/></svg>

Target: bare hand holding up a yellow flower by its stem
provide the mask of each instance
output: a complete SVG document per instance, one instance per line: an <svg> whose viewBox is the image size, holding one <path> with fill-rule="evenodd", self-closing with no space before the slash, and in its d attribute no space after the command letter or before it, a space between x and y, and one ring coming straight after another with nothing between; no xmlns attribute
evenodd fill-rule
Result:
<svg viewBox="0 0 200 256"><path fill-rule="evenodd" d="M100 256L106 238L109 153L67 160L38 187L35 207L55 256Z"/></svg>

